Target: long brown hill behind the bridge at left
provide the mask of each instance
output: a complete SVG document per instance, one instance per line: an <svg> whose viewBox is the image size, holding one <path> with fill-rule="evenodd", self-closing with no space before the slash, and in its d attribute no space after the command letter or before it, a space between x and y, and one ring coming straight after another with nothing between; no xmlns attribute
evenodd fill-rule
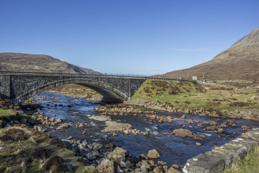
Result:
<svg viewBox="0 0 259 173"><path fill-rule="evenodd" d="M75 66L48 55L25 53L0 53L0 68L2 70L24 69L24 71L34 69L37 71L44 70L45 72L51 72L53 70L54 72L62 71L62 73L96 72L92 69Z"/></svg>

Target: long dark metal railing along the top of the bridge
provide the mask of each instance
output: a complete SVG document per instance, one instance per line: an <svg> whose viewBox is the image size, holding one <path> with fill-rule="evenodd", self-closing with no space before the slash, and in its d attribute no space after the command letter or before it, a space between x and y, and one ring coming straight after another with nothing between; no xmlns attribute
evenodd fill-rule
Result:
<svg viewBox="0 0 259 173"><path fill-rule="evenodd" d="M99 72L62 72L54 70L36 70L36 69L2 69L0 74L7 75L58 75L58 76L71 76L71 77L104 77L104 78L124 78L124 79L149 79L149 80L166 80L166 81L190 81L190 80L177 80L169 78L154 78L147 77L146 75L139 74L120 74L120 73L99 73Z"/></svg>

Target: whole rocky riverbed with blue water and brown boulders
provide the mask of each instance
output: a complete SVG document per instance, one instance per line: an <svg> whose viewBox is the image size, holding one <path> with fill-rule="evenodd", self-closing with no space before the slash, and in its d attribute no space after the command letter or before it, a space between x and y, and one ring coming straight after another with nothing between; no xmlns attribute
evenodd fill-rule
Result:
<svg viewBox="0 0 259 173"><path fill-rule="evenodd" d="M146 169L165 172L170 167L181 170L189 158L213 146L221 146L252 127L259 127L253 121L173 113L134 105L102 105L53 92L42 93L29 101L35 102L41 106L37 110L27 108L27 113L39 122L29 125L62 140L86 165L103 167L107 163L111 168L121 169L120 172L145 172ZM159 158L148 155L153 149ZM119 154L123 161L111 159L118 156L111 156L117 150L125 153Z"/></svg>

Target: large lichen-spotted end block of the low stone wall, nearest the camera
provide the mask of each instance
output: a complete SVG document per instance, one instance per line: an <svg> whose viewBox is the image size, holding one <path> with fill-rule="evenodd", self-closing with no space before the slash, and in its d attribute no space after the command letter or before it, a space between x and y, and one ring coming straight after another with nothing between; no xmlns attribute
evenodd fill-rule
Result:
<svg viewBox="0 0 259 173"><path fill-rule="evenodd" d="M225 161L217 156L199 154L190 158L185 163L183 172L185 173L221 173L224 170Z"/></svg>

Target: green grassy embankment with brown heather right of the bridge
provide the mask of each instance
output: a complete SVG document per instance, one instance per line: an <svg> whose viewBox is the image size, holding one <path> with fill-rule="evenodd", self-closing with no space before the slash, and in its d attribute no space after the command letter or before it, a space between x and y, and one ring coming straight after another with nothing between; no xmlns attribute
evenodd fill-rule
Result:
<svg viewBox="0 0 259 173"><path fill-rule="evenodd" d="M195 84L195 82L147 80L132 99L168 102L180 108L230 110L259 108L259 90Z"/></svg>

